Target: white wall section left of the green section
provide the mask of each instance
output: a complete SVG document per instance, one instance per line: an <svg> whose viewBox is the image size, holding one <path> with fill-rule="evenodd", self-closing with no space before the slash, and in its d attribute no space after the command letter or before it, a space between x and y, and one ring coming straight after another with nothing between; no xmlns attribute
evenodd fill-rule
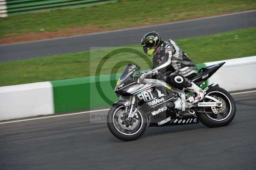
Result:
<svg viewBox="0 0 256 170"><path fill-rule="evenodd" d="M50 82L0 87L0 121L53 113Z"/></svg>

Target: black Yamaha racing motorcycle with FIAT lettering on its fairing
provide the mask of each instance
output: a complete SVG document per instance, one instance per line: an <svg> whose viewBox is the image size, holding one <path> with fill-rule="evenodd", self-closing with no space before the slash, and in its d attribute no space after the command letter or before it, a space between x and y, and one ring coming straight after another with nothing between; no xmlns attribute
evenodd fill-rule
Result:
<svg viewBox="0 0 256 170"><path fill-rule="evenodd" d="M201 86L224 63L200 69L191 81ZM116 83L114 92L121 100L113 104L107 119L108 128L116 138L132 141L143 135L146 127L198 124L200 121L207 127L221 127L235 117L234 99L218 84L205 87L204 99L192 104L195 95L167 84L168 74L155 79L149 77L148 72L137 73L138 69L140 66L128 64Z"/></svg>

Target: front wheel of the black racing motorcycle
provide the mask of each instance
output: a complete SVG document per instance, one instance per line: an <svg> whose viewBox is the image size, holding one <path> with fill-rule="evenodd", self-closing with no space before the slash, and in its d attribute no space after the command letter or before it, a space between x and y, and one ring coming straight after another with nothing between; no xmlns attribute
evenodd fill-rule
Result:
<svg viewBox="0 0 256 170"><path fill-rule="evenodd" d="M133 141L139 138L146 130L147 118L142 109L137 109L131 119L125 115L123 105L114 105L108 112L108 129L116 137L123 141Z"/></svg>

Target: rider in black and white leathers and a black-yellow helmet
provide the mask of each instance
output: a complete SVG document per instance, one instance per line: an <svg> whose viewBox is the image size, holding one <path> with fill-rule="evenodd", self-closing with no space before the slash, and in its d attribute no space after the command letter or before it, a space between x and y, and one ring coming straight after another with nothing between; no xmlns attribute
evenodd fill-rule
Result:
<svg viewBox="0 0 256 170"><path fill-rule="evenodd" d="M204 90L190 81L197 74L197 66L173 40L162 41L157 32L148 32L142 37L141 46L147 55L154 53L154 67L147 75L172 71L167 75L167 83L195 92L197 96L193 104L204 98Z"/></svg>

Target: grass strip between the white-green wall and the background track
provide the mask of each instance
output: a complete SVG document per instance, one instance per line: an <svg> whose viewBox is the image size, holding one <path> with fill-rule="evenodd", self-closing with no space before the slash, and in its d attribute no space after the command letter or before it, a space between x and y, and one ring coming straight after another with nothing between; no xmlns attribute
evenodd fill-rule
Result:
<svg viewBox="0 0 256 170"><path fill-rule="evenodd" d="M186 38L176 40L176 42L195 63L253 56L256 55L256 28ZM141 50L139 45L134 48ZM89 51L86 51L2 62L0 63L0 86L90 76L94 74L102 57L113 49L115 48L98 49L91 55ZM110 74L113 66L124 60L133 61L142 66L144 70L149 69L147 63L137 55L121 53L114 55L105 63L101 75ZM122 68L118 69L118 72L122 72Z"/></svg>

